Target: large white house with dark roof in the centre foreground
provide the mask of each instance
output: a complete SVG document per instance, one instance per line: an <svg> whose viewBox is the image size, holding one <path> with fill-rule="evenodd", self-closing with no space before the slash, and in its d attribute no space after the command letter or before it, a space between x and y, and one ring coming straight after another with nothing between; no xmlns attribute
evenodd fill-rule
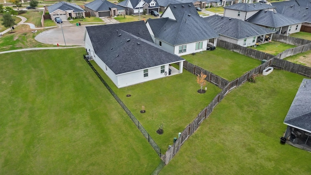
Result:
<svg viewBox="0 0 311 175"><path fill-rule="evenodd" d="M84 41L89 57L118 88L183 71L184 59L156 46L144 21L89 26Z"/></svg>

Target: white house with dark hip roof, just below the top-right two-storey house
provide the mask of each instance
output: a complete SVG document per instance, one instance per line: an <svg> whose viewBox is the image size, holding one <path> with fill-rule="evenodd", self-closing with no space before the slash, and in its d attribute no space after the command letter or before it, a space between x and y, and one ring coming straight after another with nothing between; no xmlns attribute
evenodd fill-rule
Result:
<svg viewBox="0 0 311 175"><path fill-rule="evenodd" d="M246 19L246 21L269 28L283 35L299 32L303 22L299 19L286 17L268 10L260 10L252 17Z"/></svg>

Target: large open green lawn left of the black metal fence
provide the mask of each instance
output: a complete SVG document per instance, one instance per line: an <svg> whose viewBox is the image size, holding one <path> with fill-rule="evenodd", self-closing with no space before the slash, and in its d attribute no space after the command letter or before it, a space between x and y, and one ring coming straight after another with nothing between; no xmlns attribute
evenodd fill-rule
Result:
<svg viewBox="0 0 311 175"><path fill-rule="evenodd" d="M147 175L158 165L83 53L0 55L1 175Z"/></svg>

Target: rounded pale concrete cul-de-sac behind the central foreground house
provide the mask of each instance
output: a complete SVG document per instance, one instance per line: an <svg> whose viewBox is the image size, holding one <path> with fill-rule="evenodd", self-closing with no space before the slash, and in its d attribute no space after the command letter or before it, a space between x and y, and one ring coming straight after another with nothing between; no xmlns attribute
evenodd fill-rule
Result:
<svg viewBox="0 0 311 175"><path fill-rule="evenodd" d="M53 28L51 30L44 31L39 35L36 35L35 40L41 43L53 45L57 45L58 43L59 45L65 46L66 41L67 46L85 46L83 42L83 37L86 30L86 26L89 25L76 26L70 24L68 21L63 21L62 26L60 24L57 25L59 26L58 28Z"/></svg>

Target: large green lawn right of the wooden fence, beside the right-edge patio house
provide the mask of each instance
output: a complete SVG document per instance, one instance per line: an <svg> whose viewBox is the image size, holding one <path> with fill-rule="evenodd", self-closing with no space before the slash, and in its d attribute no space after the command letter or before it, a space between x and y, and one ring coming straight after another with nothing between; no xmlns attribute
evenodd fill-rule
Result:
<svg viewBox="0 0 311 175"><path fill-rule="evenodd" d="M311 153L279 139L303 78L274 70L230 92L160 175L310 175Z"/></svg>

